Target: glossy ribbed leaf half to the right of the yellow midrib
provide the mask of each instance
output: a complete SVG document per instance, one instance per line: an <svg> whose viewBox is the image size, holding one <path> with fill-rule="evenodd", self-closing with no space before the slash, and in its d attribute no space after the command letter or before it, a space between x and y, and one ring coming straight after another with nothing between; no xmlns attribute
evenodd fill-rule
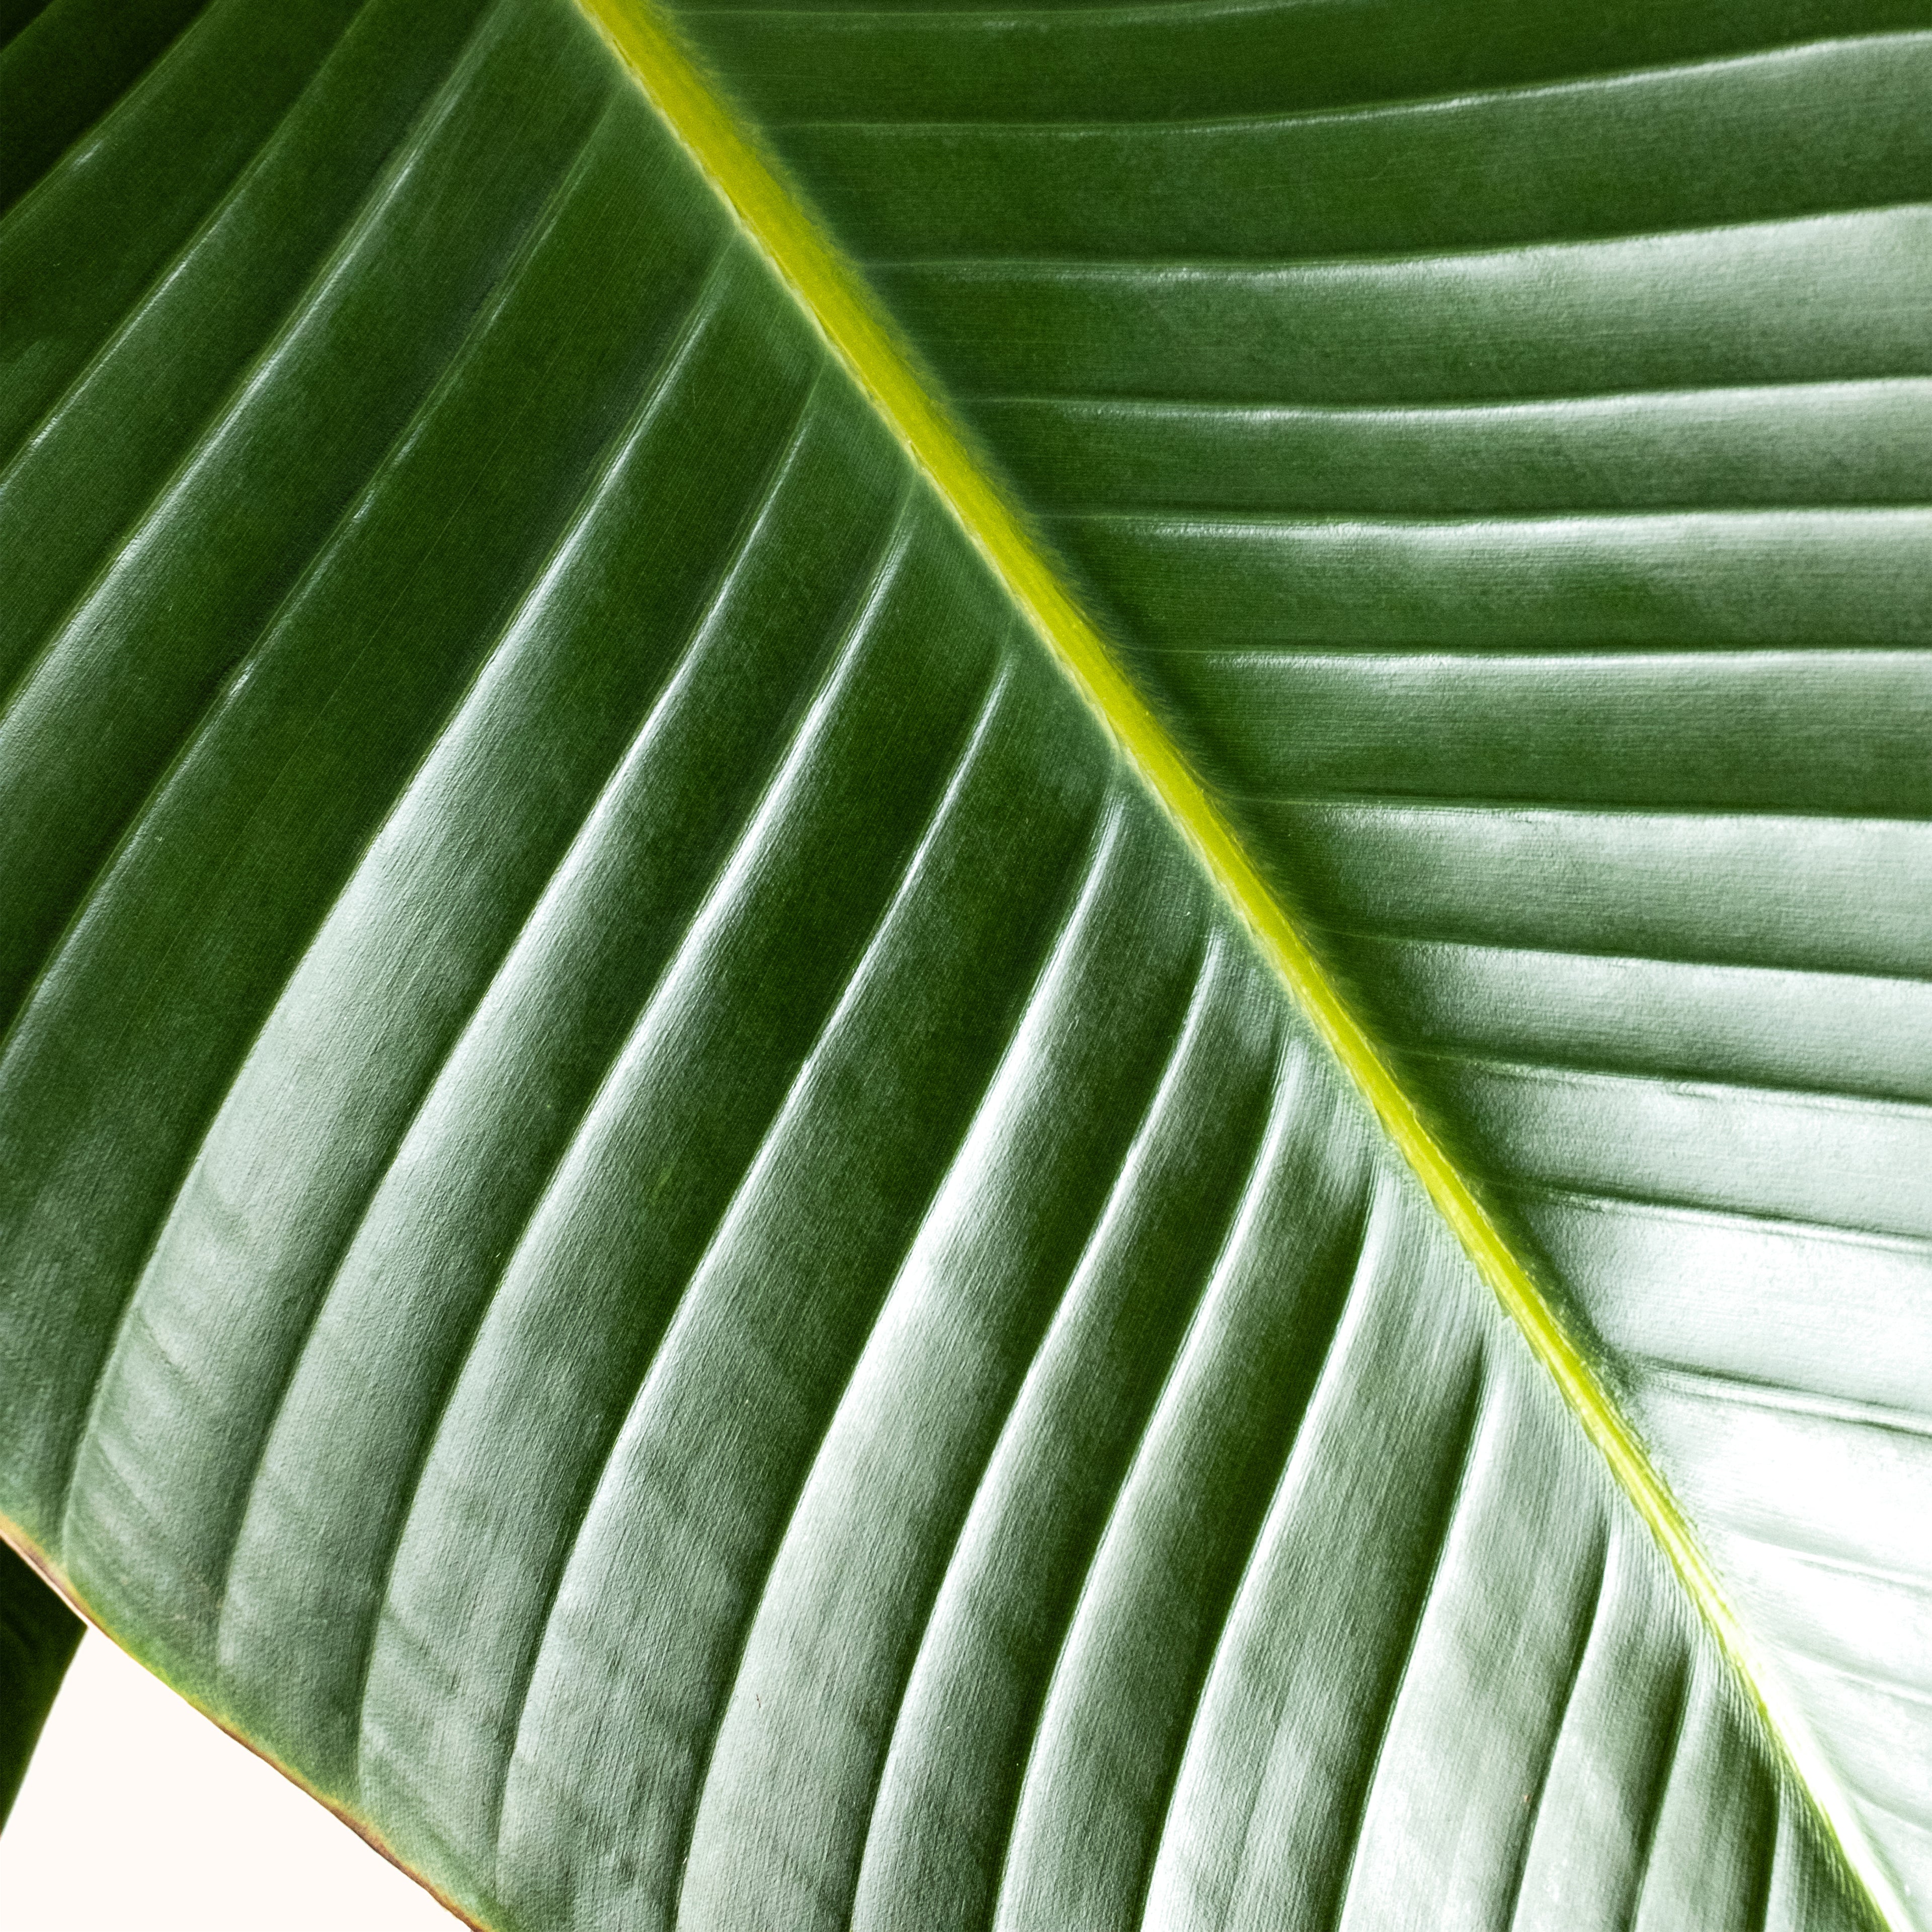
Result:
<svg viewBox="0 0 1932 1932"><path fill-rule="evenodd" d="M1932 15L682 17L1932 1909Z"/></svg>

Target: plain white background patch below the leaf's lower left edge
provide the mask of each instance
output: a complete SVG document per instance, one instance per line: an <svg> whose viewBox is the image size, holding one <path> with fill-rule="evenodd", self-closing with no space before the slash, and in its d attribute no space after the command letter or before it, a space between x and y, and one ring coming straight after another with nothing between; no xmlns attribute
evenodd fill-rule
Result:
<svg viewBox="0 0 1932 1932"><path fill-rule="evenodd" d="M0 1901L23 1932L462 1924L95 1631L0 1832Z"/></svg>

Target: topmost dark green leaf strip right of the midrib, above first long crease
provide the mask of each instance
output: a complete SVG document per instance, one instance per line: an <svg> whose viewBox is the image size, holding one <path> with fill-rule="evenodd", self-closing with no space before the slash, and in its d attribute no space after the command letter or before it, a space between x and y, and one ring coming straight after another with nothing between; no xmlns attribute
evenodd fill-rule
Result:
<svg viewBox="0 0 1932 1932"><path fill-rule="evenodd" d="M1575 8L1544 0L993 8L923 0L867 10L806 0L678 12L717 48L767 128L1124 122L1153 135L1192 118L1528 91L1627 68L1704 66L1739 48L1924 25L1920 0L1859 0L1857 8L1843 0L1748 8L1739 0ZM1633 135L1642 139L1642 129ZM1039 191L1051 193L1045 184Z"/></svg>

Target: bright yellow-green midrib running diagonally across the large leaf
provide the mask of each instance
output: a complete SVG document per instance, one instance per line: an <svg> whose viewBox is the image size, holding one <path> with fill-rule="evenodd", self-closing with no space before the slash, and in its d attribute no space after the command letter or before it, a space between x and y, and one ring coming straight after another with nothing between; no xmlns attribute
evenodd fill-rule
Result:
<svg viewBox="0 0 1932 1932"><path fill-rule="evenodd" d="M651 0L578 0L578 6L614 46L651 106L925 473L1126 763L1179 827L1294 1005L1341 1061L1430 1200L1455 1229L1476 1271L1553 1378L1584 1434L1609 1463L1619 1488L1662 1544L1777 1748L1810 1789L1847 1864L1876 1903L1889 1888L1874 1882L1874 1861L1859 1857L1862 1830L1849 1801L1810 1747L1804 1727L1793 1723L1768 1696L1737 1613L1650 1455L1549 1296L1503 1238L1470 1180L1422 1119L1381 1049L1248 858L1235 827L1068 595L1039 541L972 456L860 274L757 153Z"/></svg>

